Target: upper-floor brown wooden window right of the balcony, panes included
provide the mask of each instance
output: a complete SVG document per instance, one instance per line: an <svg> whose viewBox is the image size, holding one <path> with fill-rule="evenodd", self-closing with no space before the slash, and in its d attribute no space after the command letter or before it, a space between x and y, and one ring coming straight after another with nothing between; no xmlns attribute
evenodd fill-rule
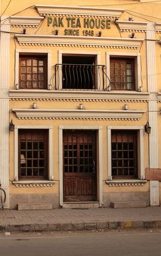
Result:
<svg viewBox="0 0 161 256"><path fill-rule="evenodd" d="M133 58L110 59L111 90L135 90L135 70Z"/></svg>

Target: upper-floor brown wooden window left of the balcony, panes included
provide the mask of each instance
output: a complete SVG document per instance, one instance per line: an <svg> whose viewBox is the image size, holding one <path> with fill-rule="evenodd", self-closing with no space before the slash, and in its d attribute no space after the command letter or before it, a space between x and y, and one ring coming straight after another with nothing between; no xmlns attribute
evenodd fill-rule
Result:
<svg viewBox="0 0 161 256"><path fill-rule="evenodd" d="M47 89L46 55L20 55L19 88Z"/></svg>

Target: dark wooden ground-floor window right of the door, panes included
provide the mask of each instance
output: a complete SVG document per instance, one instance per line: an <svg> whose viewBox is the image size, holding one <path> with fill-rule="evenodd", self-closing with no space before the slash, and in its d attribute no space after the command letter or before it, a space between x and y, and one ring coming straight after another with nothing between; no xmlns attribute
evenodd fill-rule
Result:
<svg viewBox="0 0 161 256"><path fill-rule="evenodd" d="M111 169L114 179L138 177L136 130L111 131Z"/></svg>

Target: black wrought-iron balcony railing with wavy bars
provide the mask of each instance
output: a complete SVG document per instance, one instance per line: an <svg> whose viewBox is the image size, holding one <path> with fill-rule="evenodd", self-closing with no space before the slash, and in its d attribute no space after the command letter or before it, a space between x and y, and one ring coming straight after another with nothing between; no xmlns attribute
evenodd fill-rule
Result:
<svg viewBox="0 0 161 256"><path fill-rule="evenodd" d="M55 89L105 90L106 66L89 64L56 64L52 83Z"/></svg>

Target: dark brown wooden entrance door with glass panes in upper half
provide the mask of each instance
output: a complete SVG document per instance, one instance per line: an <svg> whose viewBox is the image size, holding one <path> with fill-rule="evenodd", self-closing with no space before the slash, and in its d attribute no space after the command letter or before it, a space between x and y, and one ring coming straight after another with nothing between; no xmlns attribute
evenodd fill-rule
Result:
<svg viewBox="0 0 161 256"><path fill-rule="evenodd" d="M63 132L63 200L96 200L96 131Z"/></svg>

